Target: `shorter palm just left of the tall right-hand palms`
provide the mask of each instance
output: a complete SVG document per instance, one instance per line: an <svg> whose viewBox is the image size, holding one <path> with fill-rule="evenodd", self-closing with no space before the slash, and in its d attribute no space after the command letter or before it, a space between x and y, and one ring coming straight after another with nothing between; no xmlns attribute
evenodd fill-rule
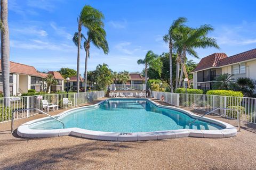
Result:
<svg viewBox="0 0 256 170"><path fill-rule="evenodd" d="M162 73L163 63L161 58L159 58L155 53L149 50L144 59L140 59L137 61L139 65L145 65L145 84L148 81L148 69L151 67L155 70L159 75Z"/></svg>

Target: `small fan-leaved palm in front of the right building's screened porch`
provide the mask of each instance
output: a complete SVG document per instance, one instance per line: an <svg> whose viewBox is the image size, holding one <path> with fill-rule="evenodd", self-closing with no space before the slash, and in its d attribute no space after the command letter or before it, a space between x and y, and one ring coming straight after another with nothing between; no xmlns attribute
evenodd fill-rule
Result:
<svg viewBox="0 0 256 170"><path fill-rule="evenodd" d="M219 75L219 77L216 78L216 82L213 84L213 89L229 90L234 80L231 77L232 75L228 73Z"/></svg>

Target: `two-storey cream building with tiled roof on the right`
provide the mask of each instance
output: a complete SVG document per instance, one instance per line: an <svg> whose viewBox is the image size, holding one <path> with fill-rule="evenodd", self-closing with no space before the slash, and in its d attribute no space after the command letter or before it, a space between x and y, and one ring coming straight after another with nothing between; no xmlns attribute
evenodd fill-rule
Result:
<svg viewBox="0 0 256 170"><path fill-rule="evenodd" d="M256 48L228 57L225 53L214 53L202 58L193 70L194 89L208 90L216 78L224 73L233 79L248 77L256 79Z"/></svg>

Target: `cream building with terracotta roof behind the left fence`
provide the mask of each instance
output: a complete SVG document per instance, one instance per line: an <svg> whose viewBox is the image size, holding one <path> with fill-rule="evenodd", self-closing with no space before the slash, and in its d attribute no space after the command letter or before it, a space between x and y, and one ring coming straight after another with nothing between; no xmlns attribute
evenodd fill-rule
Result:
<svg viewBox="0 0 256 170"><path fill-rule="evenodd" d="M1 60L0 60L0 75L1 72ZM51 72L54 74L54 78L58 80L59 84L55 89L63 91L63 78L58 72ZM39 73L34 66L10 62L10 94L11 96L17 96L22 93L28 92L29 89L36 91L45 91L46 85L44 78L47 74ZM54 91L54 87L53 91ZM3 80L0 76L0 92L3 92Z"/></svg>

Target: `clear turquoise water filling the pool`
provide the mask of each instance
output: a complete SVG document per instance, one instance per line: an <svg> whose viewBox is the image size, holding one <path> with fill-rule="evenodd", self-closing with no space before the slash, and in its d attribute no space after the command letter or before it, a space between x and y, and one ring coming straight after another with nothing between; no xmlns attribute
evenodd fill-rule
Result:
<svg viewBox="0 0 256 170"><path fill-rule="evenodd" d="M59 117L65 128L105 132L151 132L189 129L194 119L172 109L159 108L145 99L109 99L97 108L83 108ZM30 129L61 129L62 124L47 120L31 124ZM196 121L190 129L218 130L221 127Z"/></svg>

